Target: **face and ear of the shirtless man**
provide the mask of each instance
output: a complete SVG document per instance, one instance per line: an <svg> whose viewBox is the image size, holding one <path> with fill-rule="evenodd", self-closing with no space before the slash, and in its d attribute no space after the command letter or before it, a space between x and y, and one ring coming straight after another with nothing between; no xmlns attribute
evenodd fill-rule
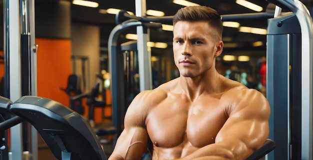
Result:
<svg viewBox="0 0 313 160"><path fill-rule="evenodd" d="M215 69L223 43L205 21L178 21L173 29L174 61L180 75L193 77Z"/></svg>

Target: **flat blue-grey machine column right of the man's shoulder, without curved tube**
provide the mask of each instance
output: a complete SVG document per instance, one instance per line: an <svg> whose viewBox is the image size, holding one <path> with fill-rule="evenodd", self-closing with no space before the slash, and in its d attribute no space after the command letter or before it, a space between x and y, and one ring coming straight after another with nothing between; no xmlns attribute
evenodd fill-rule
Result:
<svg viewBox="0 0 313 160"><path fill-rule="evenodd" d="M299 58L296 58L301 52L300 32L292 12L268 20L266 96L271 107L269 138L276 143L276 148L268 154L269 159L290 159L290 130L294 126L291 123L300 117L299 112L293 112L293 121L290 118L290 110L300 107L299 97L292 94L300 88L300 77L296 77L301 71Z"/></svg>

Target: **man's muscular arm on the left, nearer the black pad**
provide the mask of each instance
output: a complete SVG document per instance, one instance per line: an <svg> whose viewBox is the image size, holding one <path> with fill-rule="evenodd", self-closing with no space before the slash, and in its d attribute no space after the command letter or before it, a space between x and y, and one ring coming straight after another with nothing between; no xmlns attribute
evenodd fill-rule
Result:
<svg viewBox="0 0 313 160"><path fill-rule="evenodd" d="M116 141L109 160L140 159L147 148L148 133L145 127L147 113L144 94L139 93L129 105L124 118L124 129Z"/></svg>

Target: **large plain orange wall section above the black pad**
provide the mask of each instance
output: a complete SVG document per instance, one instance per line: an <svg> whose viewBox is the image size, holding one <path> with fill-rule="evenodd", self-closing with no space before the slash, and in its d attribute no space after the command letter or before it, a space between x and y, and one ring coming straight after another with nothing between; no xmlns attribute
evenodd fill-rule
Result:
<svg viewBox="0 0 313 160"><path fill-rule="evenodd" d="M59 87L66 87L71 74L71 40L35 38L37 51L37 95L66 106L69 97Z"/></svg>

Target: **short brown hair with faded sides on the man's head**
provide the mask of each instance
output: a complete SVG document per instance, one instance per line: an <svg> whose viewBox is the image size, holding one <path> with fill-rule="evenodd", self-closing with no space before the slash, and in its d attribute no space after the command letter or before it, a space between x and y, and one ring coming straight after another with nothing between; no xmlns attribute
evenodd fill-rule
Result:
<svg viewBox="0 0 313 160"><path fill-rule="evenodd" d="M186 6L179 9L173 17L173 25L177 21L207 21L214 27L218 35L222 35L223 25L217 11L208 6Z"/></svg>

